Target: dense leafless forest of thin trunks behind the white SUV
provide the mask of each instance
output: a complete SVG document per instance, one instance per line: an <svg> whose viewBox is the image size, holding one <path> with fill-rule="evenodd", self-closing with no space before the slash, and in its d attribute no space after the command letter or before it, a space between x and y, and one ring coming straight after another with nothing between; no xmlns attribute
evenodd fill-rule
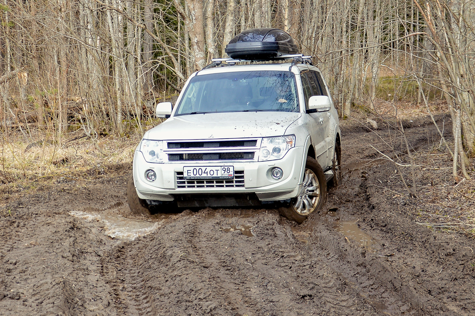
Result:
<svg viewBox="0 0 475 316"><path fill-rule="evenodd" d="M475 0L2 0L0 120L22 128L36 113L58 143L82 119L88 131L143 132L158 97L225 55L239 31L276 27L314 56L344 115L374 99L380 69L447 100L454 179L475 152ZM165 91L165 92L164 92ZM428 107L429 108L429 107ZM26 122L26 120L23 120ZM129 124L129 122L133 124ZM93 132L91 132L94 134Z"/></svg>

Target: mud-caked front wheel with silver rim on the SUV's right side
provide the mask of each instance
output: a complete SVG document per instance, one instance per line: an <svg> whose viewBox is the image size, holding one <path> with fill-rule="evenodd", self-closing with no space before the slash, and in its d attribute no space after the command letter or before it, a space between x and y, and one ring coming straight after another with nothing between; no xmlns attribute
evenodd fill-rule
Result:
<svg viewBox="0 0 475 316"><path fill-rule="evenodd" d="M299 224L309 214L323 209L326 202L327 185L325 174L320 164L312 157L307 157L302 190L290 203L279 208L279 213Z"/></svg>

